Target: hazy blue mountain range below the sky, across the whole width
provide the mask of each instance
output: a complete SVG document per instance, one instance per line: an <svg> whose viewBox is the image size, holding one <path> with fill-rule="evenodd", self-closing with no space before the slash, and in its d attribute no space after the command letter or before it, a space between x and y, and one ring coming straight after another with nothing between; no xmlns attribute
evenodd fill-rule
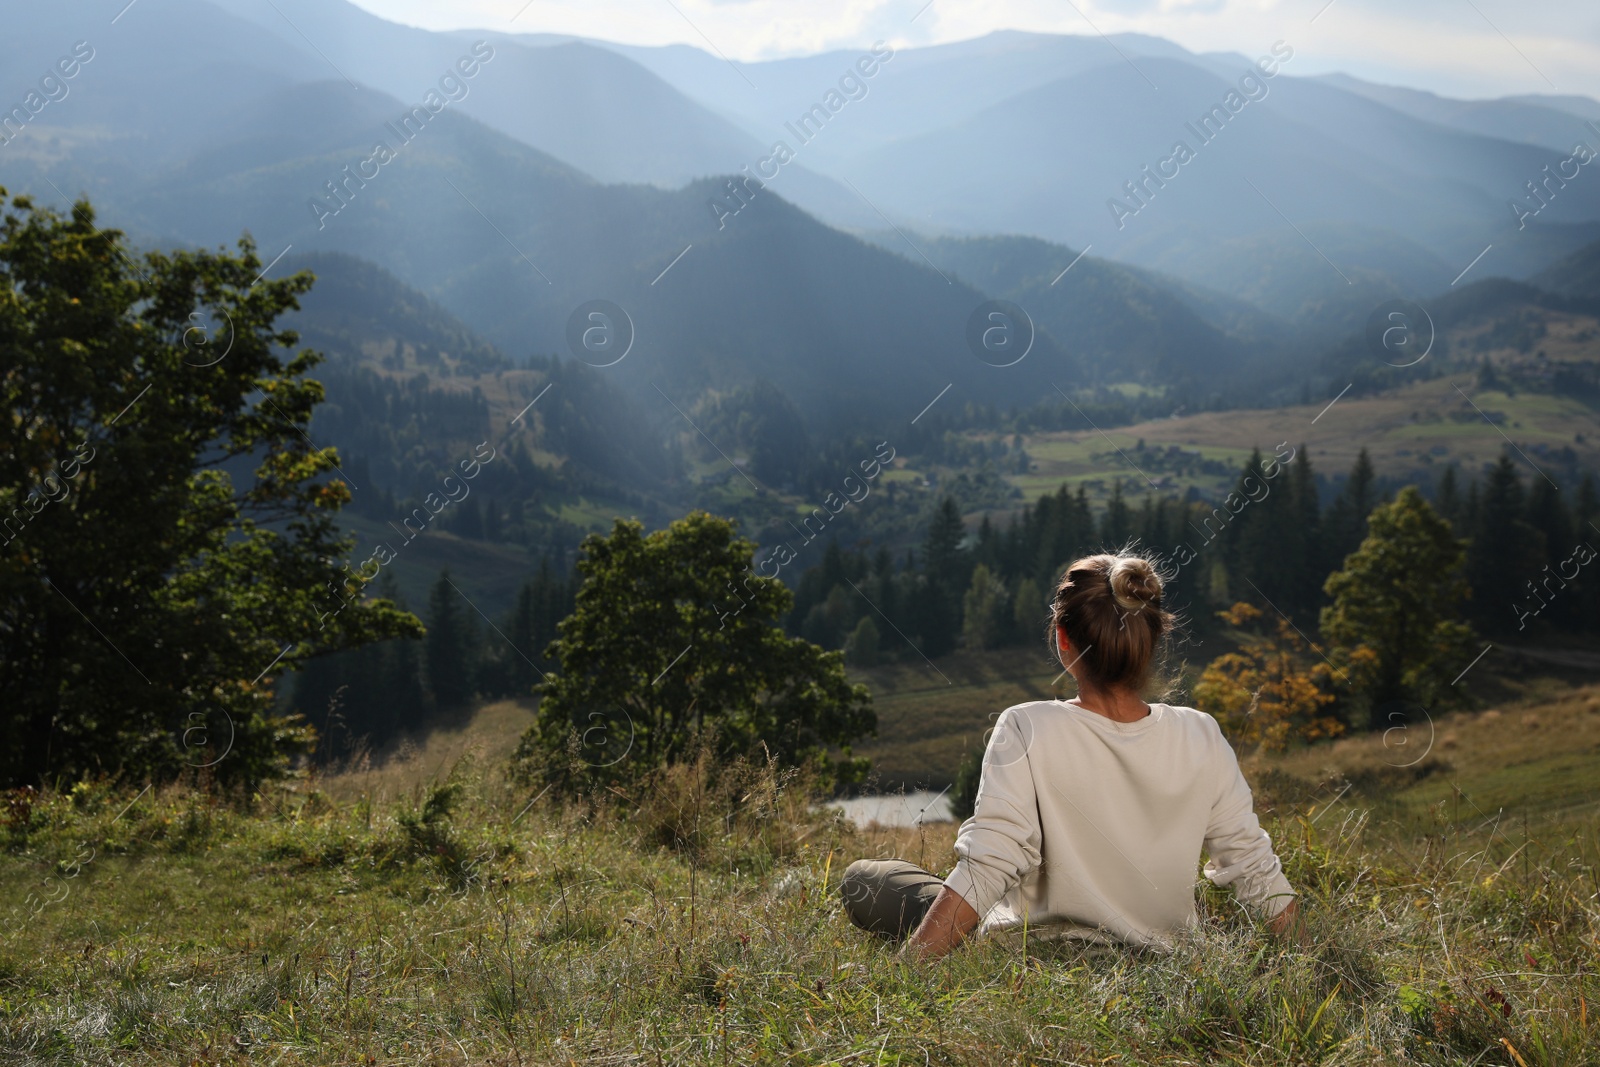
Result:
<svg viewBox="0 0 1600 1067"><path fill-rule="evenodd" d="M1590 168L1549 203L1525 189L1600 104L1299 78L1286 46L1264 51L1270 78L1150 37L1014 32L733 66L435 34L344 0L101 14L32 6L0 38L0 99L94 50L0 146L13 192L88 194L142 243L248 230L264 261L357 256L510 360L571 357L574 312L611 301L634 342L603 373L662 410L762 379L816 426L909 418L947 386L1006 406L1069 381L1259 402L1315 379L1310 354L1382 299L1469 264L1589 285L1579 250L1600 238ZM768 187L730 184L774 141L794 158ZM1539 203L1525 229L1518 195ZM971 350L989 298L1037 328L1016 366Z"/></svg>

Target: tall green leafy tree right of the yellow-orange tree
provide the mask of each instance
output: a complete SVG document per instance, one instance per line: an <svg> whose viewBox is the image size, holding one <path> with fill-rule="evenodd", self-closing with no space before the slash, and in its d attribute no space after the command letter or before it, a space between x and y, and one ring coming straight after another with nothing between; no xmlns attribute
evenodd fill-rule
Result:
<svg viewBox="0 0 1600 1067"><path fill-rule="evenodd" d="M1322 611L1322 633L1373 707L1432 705L1470 659L1472 629L1459 619L1470 593L1464 544L1414 486L1376 507L1366 530L1328 577L1333 603Z"/></svg>

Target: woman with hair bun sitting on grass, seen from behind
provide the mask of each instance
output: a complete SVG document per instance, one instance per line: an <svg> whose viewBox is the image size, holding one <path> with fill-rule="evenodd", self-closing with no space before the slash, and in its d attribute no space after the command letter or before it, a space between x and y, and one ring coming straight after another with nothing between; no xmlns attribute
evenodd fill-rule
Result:
<svg viewBox="0 0 1600 1067"><path fill-rule="evenodd" d="M1051 635L1078 696L1006 709L955 870L941 881L904 861L856 861L842 886L851 921L896 941L915 931L902 955L923 960L979 925L1170 949L1197 923L1203 846L1206 878L1286 931L1294 889L1216 720L1139 699L1171 625L1149 560L1091 555L1067 568Z"/></svg>

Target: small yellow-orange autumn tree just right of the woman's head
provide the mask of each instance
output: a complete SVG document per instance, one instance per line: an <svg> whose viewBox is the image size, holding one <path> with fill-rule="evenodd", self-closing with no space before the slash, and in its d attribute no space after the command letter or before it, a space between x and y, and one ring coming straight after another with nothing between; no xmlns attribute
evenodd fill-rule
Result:
<svg viewBox="0 0 1600 1067"><path fill-rule="evenodd" d="M1234 744L1282 752L1291 741L1344 733L1344 721L1328 707L1334 702L1334 669L1315 662L1317 654L1288 619L1278 617L1267 629L1261 609L1243 601L1218 617L1237 630L1238 651L1206 665L1195 704L1216 717Z"/></svg>

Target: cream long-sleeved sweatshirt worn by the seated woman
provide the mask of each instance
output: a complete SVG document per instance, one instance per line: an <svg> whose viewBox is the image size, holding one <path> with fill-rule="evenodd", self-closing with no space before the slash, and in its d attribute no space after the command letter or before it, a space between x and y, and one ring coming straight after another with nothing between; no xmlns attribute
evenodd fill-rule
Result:
<svg viewBox="0 0 1600 1067"><path fill-rule="evenodd" d="M1194 926L1195 867L1262 917L1294 889L1216 720L1150 704L1118 723L1066 701L1006 709L946 885L982 933L1021 926L1155 949ZM1046 931L1040 931L1046 933Z"/></svg>

